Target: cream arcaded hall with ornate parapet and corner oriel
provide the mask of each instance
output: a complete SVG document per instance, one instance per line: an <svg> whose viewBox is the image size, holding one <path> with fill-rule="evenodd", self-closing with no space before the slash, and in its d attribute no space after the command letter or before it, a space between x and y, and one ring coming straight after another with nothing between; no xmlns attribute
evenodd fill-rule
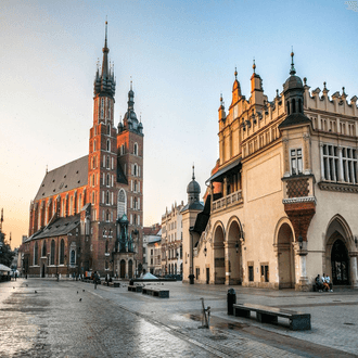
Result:
<svg viewBox="0 0 358 358"><path fill-rule="evenodd" d="M253 66L219 107L219 159L205 208L183 212L183 278L308 291L315 277L357 287L357 97L290 77L272 101Z"/></svg>

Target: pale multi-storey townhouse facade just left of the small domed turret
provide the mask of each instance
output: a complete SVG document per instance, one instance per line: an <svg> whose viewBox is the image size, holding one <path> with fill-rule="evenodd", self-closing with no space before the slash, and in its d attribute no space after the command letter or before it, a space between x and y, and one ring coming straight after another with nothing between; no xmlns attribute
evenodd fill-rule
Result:
<svg viewBox="0 0 358 358"><path fill-rule="evenodd" d="M171 205L162 215L162 273L182 273L182 217L183 202Z"/></svg>

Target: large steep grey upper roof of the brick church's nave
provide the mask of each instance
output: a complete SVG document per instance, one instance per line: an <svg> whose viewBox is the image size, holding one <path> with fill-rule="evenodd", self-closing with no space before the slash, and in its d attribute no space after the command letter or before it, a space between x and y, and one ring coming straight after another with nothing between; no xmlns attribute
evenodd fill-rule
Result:
<svg viewBox="0 0 358 358"><path fill-rule="evenodd" d="M46 174L35 201L87 186L88 155Z"/></svg>

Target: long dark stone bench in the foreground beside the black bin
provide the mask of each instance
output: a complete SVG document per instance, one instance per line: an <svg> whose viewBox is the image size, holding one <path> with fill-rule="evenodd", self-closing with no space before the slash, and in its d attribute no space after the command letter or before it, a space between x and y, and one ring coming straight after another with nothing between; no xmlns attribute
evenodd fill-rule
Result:
<svg viewBox="0 0 358 358"><path fill-rule="evenodd" d="M290 320L290 329L293 331L310 330L310 314L297 312L290 309L269 307L254 304L234 304L235 317L251 317L251 311L256 312L256 319L261 323L278 323L278 317Z"/></svg>

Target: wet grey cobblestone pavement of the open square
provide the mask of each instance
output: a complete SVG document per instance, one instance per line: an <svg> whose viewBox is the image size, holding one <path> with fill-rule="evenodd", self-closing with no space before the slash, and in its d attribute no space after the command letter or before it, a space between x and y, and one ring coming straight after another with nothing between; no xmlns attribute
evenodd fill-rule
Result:
<svg viewBox="0 0 358 358"><path fill-rule="evenodd" d="M238 302L311 314L312 330L290 331L227 316L228 286L159 285L170 298L69 280L3 282L0 357L358 357L357 291L233 286ZM201 297L210 329L199 329Z"/></svg>

